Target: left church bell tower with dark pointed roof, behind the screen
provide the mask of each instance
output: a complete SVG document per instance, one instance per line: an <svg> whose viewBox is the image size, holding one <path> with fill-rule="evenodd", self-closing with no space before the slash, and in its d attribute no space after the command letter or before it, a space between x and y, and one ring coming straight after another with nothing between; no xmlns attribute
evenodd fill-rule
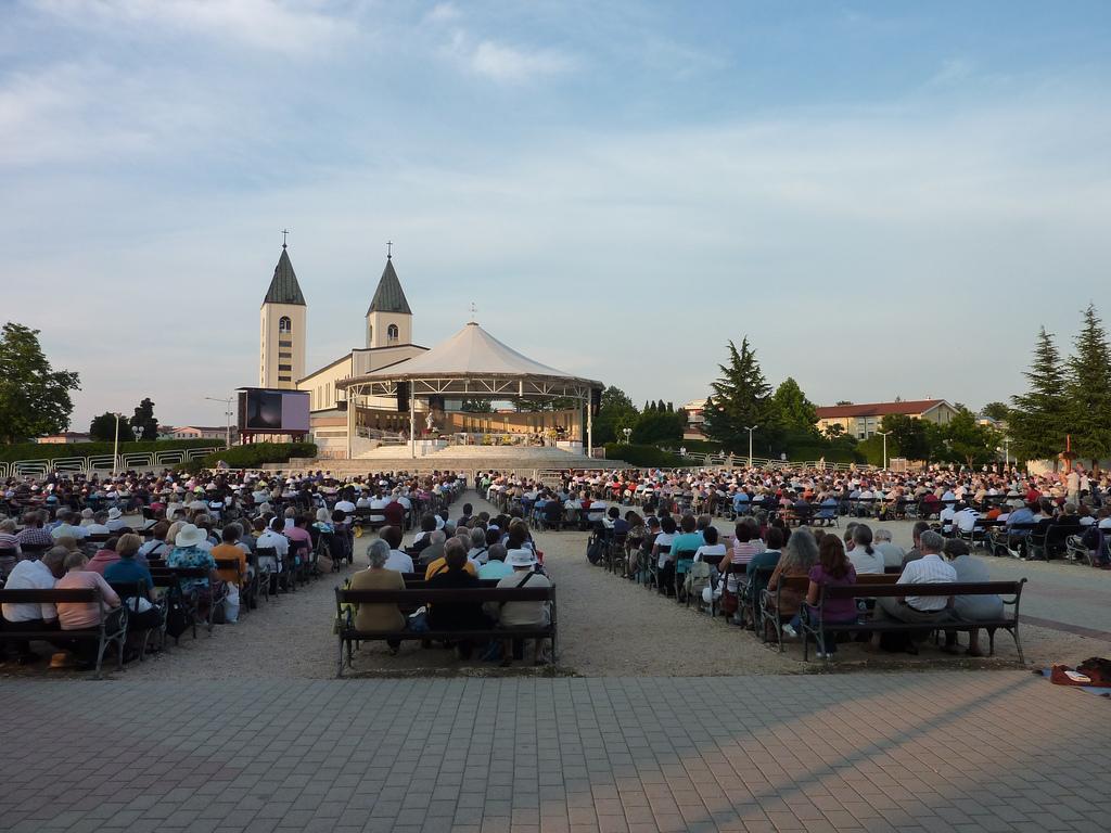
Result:
<svg viewBox="0 0 1111 833"><path fill-rule="evenodd" d="M286 243L274 267L270 289L262 299L259 344L259 387L297 389L304 377L304 295L297 282Z"/></svg>

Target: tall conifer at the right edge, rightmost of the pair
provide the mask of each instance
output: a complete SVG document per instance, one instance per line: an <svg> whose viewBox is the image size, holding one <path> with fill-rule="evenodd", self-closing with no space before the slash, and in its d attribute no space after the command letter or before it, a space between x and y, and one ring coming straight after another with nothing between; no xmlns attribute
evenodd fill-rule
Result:
<svg viewBox="0 0 1111 833"><path fill-rule="evenodd" d="M1095 308L1088 304L1083 324L1065 363L1065 413L1072 450L1097 466L1111 456L1111 351Z"/></svg>

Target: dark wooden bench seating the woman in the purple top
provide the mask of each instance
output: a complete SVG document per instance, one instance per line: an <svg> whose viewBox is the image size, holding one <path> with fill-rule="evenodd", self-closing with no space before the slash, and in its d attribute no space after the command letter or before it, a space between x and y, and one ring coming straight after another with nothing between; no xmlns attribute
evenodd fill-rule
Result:
<svg viewBox="0 0 1111 833"><path fill-rule="evenodd" d="M883 633L884 631L905 631L911 633L931 633L933 631L944 631L952 633L957 631L972 631L983 628L988 631L990 645L989 656L995 653L995 631L1004 630L1014 640L1014 648L1019 652L1019 664L1025 665L1022 656L1022 643L1019 640L1019 600L1022 598L1022 585L1025 579L1020 581L992 581L981 583L942 583L942 584L897 584L897 583L868 583L864 585L824 585L814 606L803 602L802 608L807 609L802 619L802 659L809 661L810 638L821 645L821 633L852 633L869 631L871 633ZM952 609L952 598L958 595L998 595L1003 599L1003 604L1013 606L1011 615L1004 615L994 620L972 621L958 619L955 613L951 613L951 619L938 622L900 622L898 620L858 616L854 622L837 622L825 624L822 610L827 601L863 598L903 598L913 596L944 596L949 600L948 606ZM1005 596L1012 596L1008 600ZM1004 610L1004 613L1007 611Z"/></svg>

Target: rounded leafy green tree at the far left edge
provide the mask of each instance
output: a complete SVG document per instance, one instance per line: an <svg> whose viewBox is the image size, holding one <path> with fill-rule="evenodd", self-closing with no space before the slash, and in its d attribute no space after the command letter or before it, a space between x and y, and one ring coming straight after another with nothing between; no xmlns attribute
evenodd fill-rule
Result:
<svg viewBox="0 0 1111 833"><path fill-rule="evenodd" d="M73 413L77 373L54 370L39 331L8 322L0 333L0 440L7 443L66 431Z"/></svg>

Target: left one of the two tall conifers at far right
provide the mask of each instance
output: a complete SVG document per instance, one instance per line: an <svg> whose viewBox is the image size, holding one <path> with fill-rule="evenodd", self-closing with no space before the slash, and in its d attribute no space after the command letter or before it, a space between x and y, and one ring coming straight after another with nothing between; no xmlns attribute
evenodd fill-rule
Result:
<svg viewBox="0 0 1111 833"><path fill-rule="evenodd" d="M1030 370L1023 375L1030 380L1030 390L1012 397L1014 408L1008 420L1011 448L1019 460L1052 460L1064 451L1068 433L1065 412L1064 370L1061 354L1053 337L1041 328Z"/></svg>

